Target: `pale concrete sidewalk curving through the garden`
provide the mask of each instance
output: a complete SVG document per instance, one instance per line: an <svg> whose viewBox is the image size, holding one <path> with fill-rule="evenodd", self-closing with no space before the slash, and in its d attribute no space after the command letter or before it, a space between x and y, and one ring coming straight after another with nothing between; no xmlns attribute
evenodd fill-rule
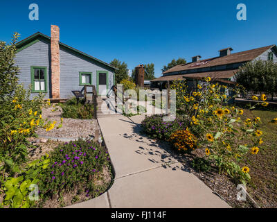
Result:
<svg viewBox="0 0 277 222"><path fill-rule="evenodd" d="M230 207L163 144L140 135L143 119L98 119L116 173L114 184L98 198L69 207Z"/></svg>

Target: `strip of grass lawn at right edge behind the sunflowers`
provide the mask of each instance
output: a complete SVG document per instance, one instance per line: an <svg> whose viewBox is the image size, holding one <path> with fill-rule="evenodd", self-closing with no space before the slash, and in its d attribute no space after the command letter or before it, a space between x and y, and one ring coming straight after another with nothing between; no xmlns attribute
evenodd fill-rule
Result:
<svg viewBox="0 0 277 222"><path fill-rule="evenodd" d="M277 207L277 124L270 121L277 117L276 108L260 110L245 110L246 118L260 117L262 124L262 140L257 155L247 155L244 164L250 168L251 182L248 185L249 194L260 207Z"/></svg>

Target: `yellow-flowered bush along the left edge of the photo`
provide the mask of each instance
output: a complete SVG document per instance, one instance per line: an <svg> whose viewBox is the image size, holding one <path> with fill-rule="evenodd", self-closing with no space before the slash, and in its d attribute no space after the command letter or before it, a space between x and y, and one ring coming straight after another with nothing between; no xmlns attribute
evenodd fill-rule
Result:
<svg viewBox="0 0 277 222"><path fill-rule="evenodd" d="M51 130L55 123L44 123L42 94L30 99L30 89L18 85L12 96L1 101L0 110L0 171L13 175L28 155L28 137L35 137L37 127ZM2 178L3 179L3 178ZM1 181L1 178L0 178Z"/></svg>

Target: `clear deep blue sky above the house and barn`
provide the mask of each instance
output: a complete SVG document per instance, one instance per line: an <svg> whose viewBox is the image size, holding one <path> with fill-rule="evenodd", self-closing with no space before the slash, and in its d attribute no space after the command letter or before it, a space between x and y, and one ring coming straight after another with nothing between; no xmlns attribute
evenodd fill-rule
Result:
<svg viewBox="0 0 277 222"><path fill-rule="evenodd" d="M39 6L39 21L30 21L30 3ZM238 21L238 3L247 6L247 21ZM277 44L276 0L1 0L0 40L13 32L21 40L37 31L50 35L60 26L60 41L105 62L125 61L129 69L153 62L155 76L173 58L218 56Z"/></svg>

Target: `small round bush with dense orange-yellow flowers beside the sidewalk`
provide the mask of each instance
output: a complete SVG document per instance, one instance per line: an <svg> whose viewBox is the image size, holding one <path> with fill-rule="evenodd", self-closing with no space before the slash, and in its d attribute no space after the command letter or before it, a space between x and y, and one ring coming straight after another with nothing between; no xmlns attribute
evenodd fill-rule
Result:
<svg viewBox="0 0 277 222"><path fill-rule="evenodd" d="M190 130L177 130L170 135L170 142L178 149L178 151L185 151L189 153L197 148L197 139L195 135L190 133Z"/></svg>

